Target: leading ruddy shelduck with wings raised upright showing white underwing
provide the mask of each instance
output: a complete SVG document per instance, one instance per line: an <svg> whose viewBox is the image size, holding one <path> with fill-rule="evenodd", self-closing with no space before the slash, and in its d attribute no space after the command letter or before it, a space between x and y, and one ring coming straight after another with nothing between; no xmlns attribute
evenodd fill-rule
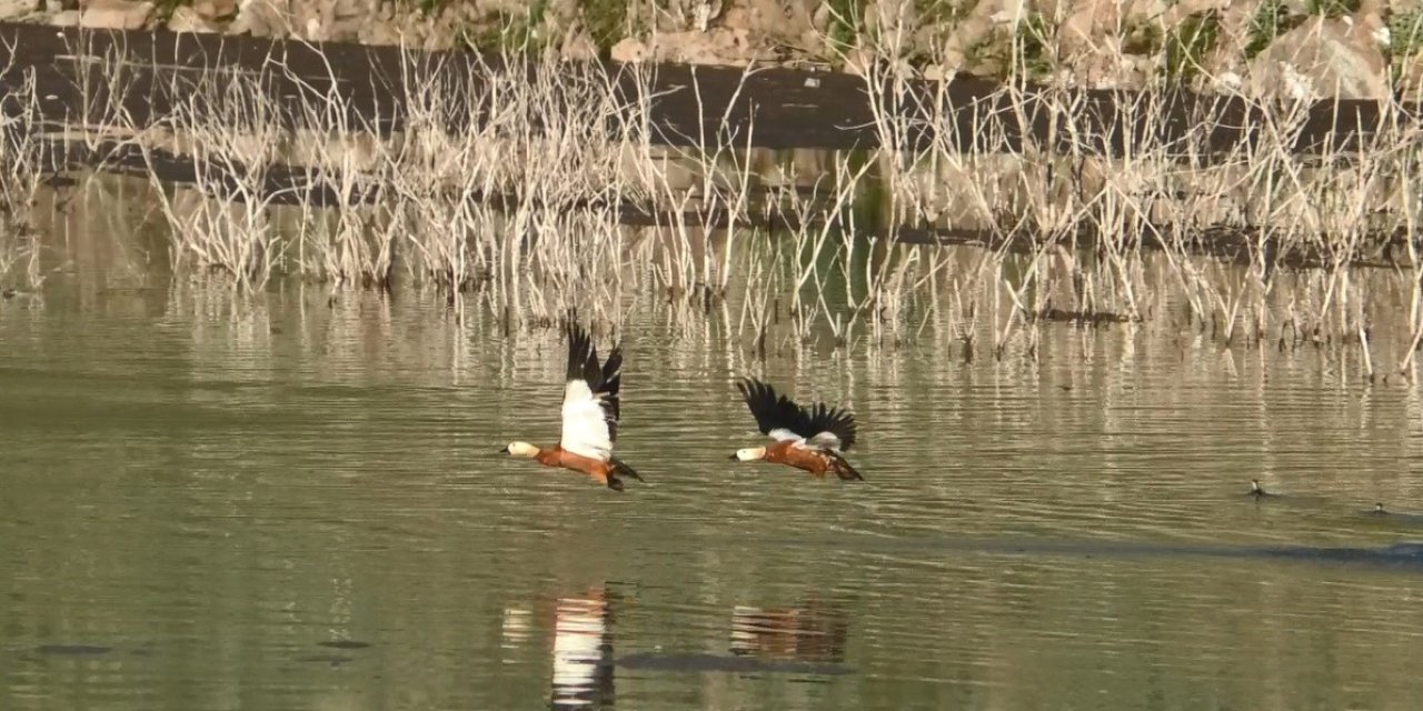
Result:
<svg viewBox="0 0 1423 711"><path fill-rule="evenodd" d="M615 344L598 365L598 348L581 326L568 326L568 381L564 385L564 432L558 447L544 449L528 442L509 442L499 454L535 459L544 466L561 466L586 474L609 489L623 491L622 476L643 481L616 456L618 385L622 380L622 346Z"/></svg>

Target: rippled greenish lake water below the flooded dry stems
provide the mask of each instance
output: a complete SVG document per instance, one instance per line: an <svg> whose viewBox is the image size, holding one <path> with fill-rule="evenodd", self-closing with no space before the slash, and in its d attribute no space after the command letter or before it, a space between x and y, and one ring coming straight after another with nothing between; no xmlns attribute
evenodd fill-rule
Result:
<svg viewBox="0 0 1423 711"><path fill-rule="evenodd" d="M4 710L1423 704L1423 401L1329 351L643 316L616 493L495 454L558 438L555 330L97 269L0 301ZM867 482L729 462L740 374L851 407Z"/></svg>

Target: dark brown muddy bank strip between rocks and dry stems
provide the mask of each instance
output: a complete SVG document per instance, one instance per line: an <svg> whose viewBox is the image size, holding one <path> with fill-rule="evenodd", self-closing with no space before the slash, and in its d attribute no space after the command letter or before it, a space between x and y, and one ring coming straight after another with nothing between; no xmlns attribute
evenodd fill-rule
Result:
<svg viewBox="0 0 1423 711"><path fill-rule="evenodd" d="M262 82L276 107L273 119L302 128L312 101L329 101L344 119L374 134L400 131L407 118L406 84L480 82L478 63L504 65L497 57L464 51L416 53L350 43L310 44L290 40L223 37L169 31L54 30L0 23L0 84L7 94L33 77L37 111L53 124L95 125L94 107L122 107L134 127L151 127L191 100L191 90L223 73ZM1239 97L1188 91L1005 88L979 77L949 81L869 82L838 73L737 68L686 64L581 63L615 87L628 102L645 101L650 141L672 146L721 142L737 148L879 146L887 135L896 148L928 145L963 152L1019 152L1030 146L1089 155L1131 155L1150 141L1192 162L1251 149L1261 139L1268 105ZM571 68L571 71L575 71ZM477 90L477 87L475 87ZM477 94L477 91L475 91ZM332 101L336 100L336 101ZM888 117L895 128L884 131ZM477 105L447 111L451 131L484 117ZM1358 151L1385 127L1419 124L1416 102L1368 100L1318 101L1284 141L1298 154ZM986 124L993 131L983 131ZM1202 132L1200 128L1208 125ZM1279 137L1269 137L1281 141Z"/></svg>

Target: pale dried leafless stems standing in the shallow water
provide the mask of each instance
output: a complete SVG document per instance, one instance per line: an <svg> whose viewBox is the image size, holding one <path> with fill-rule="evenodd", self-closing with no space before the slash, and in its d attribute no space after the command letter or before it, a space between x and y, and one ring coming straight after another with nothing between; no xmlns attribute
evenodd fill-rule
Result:
<svg viewBox="0 0 1423 711"><path fill-rule="evenodd" d="M908 31L894 3L879 7L874 41L861 44L892 60ZM451 71L455 61L472 64ZM102 84L92 97L120 94L117 55L87 67L75 75ZM169 88L189 100L158 125L94 105L90 124L108 138L84 141L97 159L120 149L145 158L176 273L221 274L239 290L273 277L437 289L461 317L478 310L504 328L575 309L616 324L659 304L679 324L703 314L763 354L815 336L1037 358L1046 323L1123 323L1228 346L1362 346L1370 377L1414 371L1414 121L1387 124L1356 151L1299 155L1292 144L1308 107L1259 104L1259 139L1228 155L1207 155L1211 115L1192 117L1185 141L1148 132L1110 159L1093 148L1101 137L1079 135L1072 121L1053 127L1052 145L1007 151L1023 115L985 111L975 137L955 135L948 94L911 94L896 64L881 61L865 70L865 87L882 148L805 159L751 149L754 135L719 127L706 127L694 151L657 145L652 82L639 74L650 70L514 67L408 54L398 87L408 112L394 134L317 88L334 82L277 64L185 73L172 78L185 85ZM629 97L619 80L643 90ZM277 115L270 87L283 81L306 87L296 124L307 128ZM11 276L33 259L16 225L43 173L44 132L26 124L33 82L26 90L7 98L0 146L11 166L0 266ZM1067 90L999 91L1019 114L1039 101L1070 115L1083 101ZM915 111L892 109L909 97ZM481 119L451 129L465 107ZM1118 119L1158 125L1170 109L1143 95ZM966 142L990 149L966 152ZM191 161L196 178L165 181L164 151ZM909 228L915 239L904 240ZM933 243L963 230L978 237ZM1210 249L1222 235L1229 255Z"/></svg>

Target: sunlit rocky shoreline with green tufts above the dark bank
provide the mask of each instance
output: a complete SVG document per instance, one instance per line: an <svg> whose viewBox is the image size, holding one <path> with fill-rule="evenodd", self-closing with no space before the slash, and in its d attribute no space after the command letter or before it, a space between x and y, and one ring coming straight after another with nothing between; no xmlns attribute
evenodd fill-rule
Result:
<svg viewBox="0 0 1423 711"><path fill-rule="evenodd" d="M1416 0L0 0L0 21L1302 101L1423 87Z"/></svg>

